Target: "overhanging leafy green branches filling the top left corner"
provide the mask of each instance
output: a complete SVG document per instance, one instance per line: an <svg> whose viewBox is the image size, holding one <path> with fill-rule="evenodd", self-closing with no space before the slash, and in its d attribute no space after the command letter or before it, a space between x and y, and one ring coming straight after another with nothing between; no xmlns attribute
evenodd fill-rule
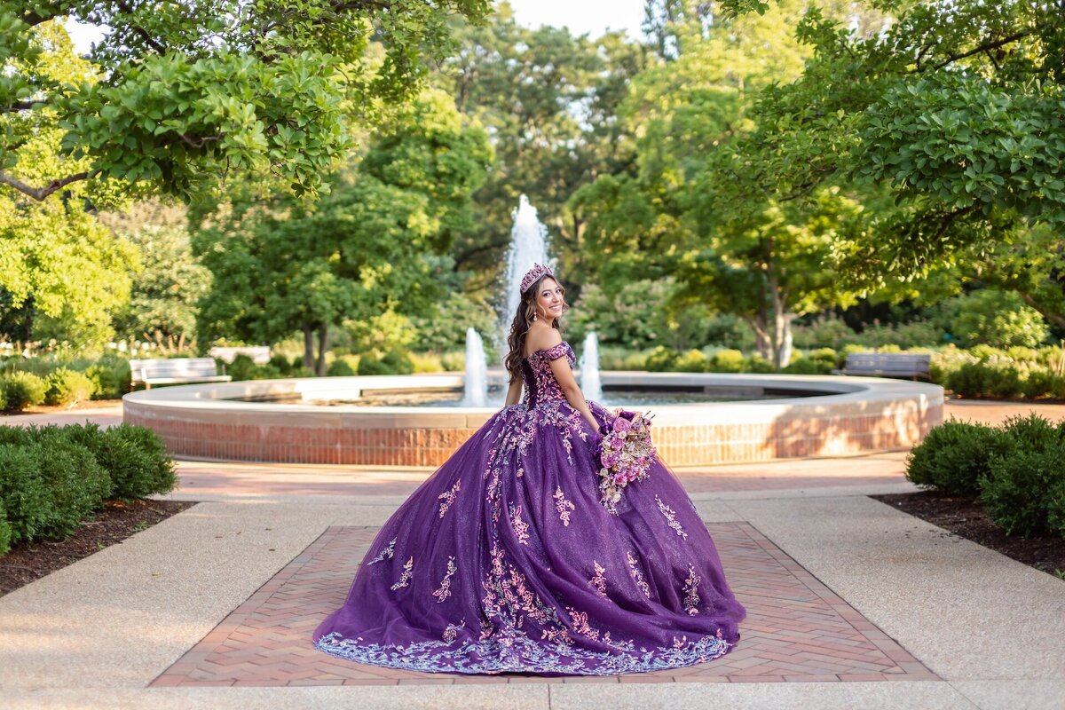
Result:
<svg viewBox="0 0 1065 710"><path fill-rule="evenodd" d="M0 1L0 184L44 200L81 181L143 183L183 199L226 172L273 172L314 192L351 145L414 95L449 48L447 21L487 0ZM110 33L59 77L40 29L75 18ZM27 160L61 129L69 161Z"/></svg>

